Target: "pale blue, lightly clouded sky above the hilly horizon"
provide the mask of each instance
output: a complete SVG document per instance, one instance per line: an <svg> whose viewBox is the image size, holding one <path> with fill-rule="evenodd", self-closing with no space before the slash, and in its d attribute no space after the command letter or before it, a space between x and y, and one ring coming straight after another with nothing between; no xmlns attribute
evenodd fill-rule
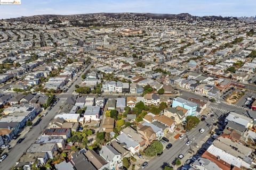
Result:
<svg viewBox="0 0 256 170"><path fill-rule="evenodd" d="M255 16L256 0L21 0L21 5L0 5L0 19L98 12Z"/></svg>

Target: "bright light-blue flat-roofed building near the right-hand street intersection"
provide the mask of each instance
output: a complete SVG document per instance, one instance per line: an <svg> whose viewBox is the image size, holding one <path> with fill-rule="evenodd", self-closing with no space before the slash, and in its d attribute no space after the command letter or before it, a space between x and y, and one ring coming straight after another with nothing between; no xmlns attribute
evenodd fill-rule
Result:
<svg viewBox="0 0 256 170"><path fill-rule="evenodd" d="M180 97L174 98L172 101L172 107L176 108L177 106L183 107L188 109L188 115L187 116L196 116L196 108L197 108L197 104L182 99Z"/></svg>

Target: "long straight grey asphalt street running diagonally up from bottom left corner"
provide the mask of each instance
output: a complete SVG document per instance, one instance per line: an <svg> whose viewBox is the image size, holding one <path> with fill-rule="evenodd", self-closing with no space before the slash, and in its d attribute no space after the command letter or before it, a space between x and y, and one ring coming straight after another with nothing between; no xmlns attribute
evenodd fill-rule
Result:
<svg viewBox="0 0 256 170"><path fill-rule="evenodd" d="M90 69L92 64L90 64L84 72ZM73 83L73 85L69 88L68 92L73 92L75 89L75 84L79 84L82 82L82 74L77 78L77 80ZM48 114L42 117L42 121L37 125L31 128L31 130L25 135L25 140L23 140L20 144L15 145L8 152L8 156L6 159L0 163L0 169L11 169L15 166L15 163L19 160L24 152L33 144L38 137L41 135L42 131L46 129L51 120L55 117L55 115L60 111L60 106L64 105L65 101L59 100L57 104L52 107L52 109L48 112Z"/></svg>

